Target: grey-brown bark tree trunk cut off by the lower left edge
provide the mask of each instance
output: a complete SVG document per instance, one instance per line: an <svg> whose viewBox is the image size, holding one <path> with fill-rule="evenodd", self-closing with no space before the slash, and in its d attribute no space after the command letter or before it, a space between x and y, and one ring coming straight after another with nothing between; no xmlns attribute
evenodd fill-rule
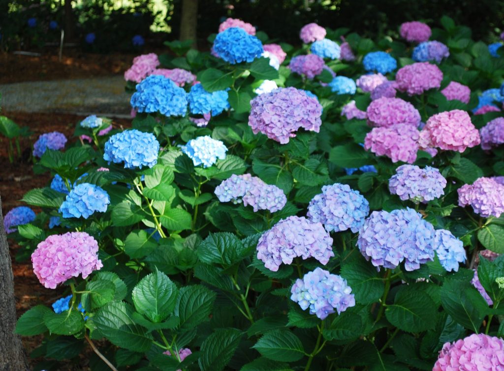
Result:
<svg viewBox="0 0 504 371"><path fill-rule="evenodd" d="M28 370L28 361L16 327L16 300L11 254L7 245L0 199L0 371Z"/></svg>

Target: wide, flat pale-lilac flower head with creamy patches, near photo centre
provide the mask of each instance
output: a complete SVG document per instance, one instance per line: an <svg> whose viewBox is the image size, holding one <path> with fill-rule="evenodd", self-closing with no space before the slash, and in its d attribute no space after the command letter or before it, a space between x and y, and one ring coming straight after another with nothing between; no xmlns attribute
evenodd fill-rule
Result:
<svg viewBox="0 0 504 371"><path fill-rule="evenodd" d="M232 201L234 204L243 202L245 206L250 205L254 208L254 212L258 210L275 212L283 209L287 203L287 197L280 188L266 184L250 174L231 175L215 187L215 195L221 202Z"/></svg>

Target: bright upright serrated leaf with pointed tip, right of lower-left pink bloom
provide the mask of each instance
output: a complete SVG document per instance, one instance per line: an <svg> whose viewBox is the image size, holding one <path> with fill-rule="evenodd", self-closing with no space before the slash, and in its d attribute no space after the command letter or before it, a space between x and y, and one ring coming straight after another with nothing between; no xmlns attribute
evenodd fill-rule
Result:
<svg viewBox="0 0 504 371"><path fill-rule="evenodd" d="M158 270L144 277L133 289L136 310L152 322L162 322L175 309L177 286Z"/></svg>

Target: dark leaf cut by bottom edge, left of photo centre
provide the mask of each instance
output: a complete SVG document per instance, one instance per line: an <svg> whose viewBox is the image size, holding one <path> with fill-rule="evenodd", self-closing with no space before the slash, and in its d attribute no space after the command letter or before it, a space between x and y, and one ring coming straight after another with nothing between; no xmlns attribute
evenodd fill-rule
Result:
<svg viewBox="0 0 504 371"><path fill-rule="evenodd" d="M231 360L242 333L236 329L218 329L201 344L199 359L202 370L221 371Z"/></svg>

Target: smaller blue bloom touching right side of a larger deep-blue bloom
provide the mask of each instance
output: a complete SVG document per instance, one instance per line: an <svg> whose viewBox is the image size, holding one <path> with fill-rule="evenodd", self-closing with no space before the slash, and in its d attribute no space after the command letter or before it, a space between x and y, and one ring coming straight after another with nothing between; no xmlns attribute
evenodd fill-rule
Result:
<svg viewBox="0 0 504 371"><path fill-rule="evenodd" d="M187 95L187 101L192 114L204 115L211 113L212 116L217 116L222 111L229 109L228 97L225 90L209 93L203 89L201 84L196 84L191 87L191 91Z"/></svg>

